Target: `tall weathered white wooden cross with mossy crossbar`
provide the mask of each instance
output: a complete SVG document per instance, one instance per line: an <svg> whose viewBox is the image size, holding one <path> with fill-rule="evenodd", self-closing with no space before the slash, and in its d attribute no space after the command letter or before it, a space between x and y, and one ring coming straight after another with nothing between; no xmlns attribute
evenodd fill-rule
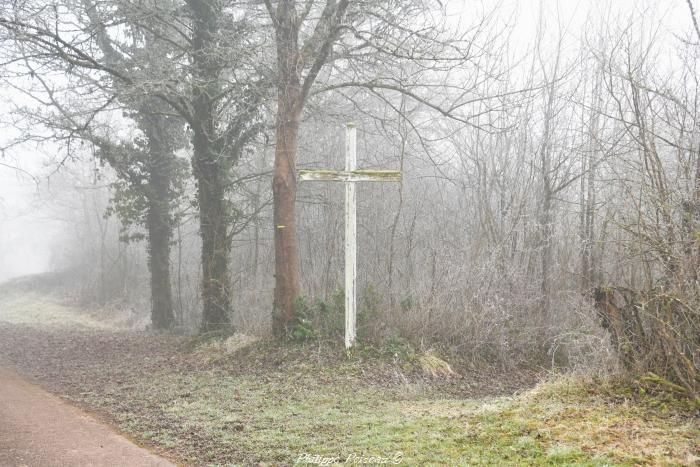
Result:
<svg viewBox="0 0 700 467"><path fill-rule="evenodd" d="M345 170L300 170L299 179L310 182L345 183L345 348L355 345L357 326L357 204L355 182L400 182L394 170L357 170L357 131L348 123L345 133Z"/></svg>

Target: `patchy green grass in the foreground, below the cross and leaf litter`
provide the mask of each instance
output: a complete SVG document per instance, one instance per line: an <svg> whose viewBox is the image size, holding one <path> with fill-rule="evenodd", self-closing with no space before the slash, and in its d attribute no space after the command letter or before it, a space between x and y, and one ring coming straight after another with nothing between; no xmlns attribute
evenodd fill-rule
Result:
<svg viewBox="0 0 700 467"><path fill-rule="evenodd" d="M341 371L342 374L342 371ZM293 463L304 453L400 456L405 465L692 465L700 432L680 407L548 383L512 398L443 399L314 372L260 379L164 374L136 388L121 428L206 465ZM559 389L558 389L559 388ZM204 460L204 462L202 462Z"/></svg>

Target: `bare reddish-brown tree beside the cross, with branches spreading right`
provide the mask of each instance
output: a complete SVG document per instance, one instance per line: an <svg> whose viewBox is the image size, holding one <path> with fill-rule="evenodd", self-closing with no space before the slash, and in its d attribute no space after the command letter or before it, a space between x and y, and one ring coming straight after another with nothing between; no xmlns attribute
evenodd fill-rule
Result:
<svg viewBox="0 0 700 467"><path fill-rule="evenodd" d="M476 95L476 86L465 84L461 76L455 79L451 72L459 75L479 62L480 54L488 55L484 49L472 50L487 20L462 34L446 25L439 1L279 0L275 4L264 0L264 4L277 47L273 331L280 336L294 323L294 301L300 293L295 171L299 124L307 100L321 92L355 90L400 114L396 97L405 95L428 112L473 125L468 110L487 97ZM482 65L485 75L495 75L488 60L476 68ZM413 68L402 77L400 70L405 66ZM440 72L452 79L436 77ZM433 86L434 81L441 84ZM436 97L436 87L444 91L441 98ZM357 102L356 96L347 97Z"/></svg>

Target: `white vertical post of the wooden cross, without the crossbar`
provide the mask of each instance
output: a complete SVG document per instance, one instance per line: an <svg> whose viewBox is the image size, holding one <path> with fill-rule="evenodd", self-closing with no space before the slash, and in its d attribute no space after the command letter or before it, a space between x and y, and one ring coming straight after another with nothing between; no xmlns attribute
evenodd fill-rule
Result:
<svg viewBox="0 0 700 467"><path fill-rule="evenodd" d="M345 133L345 170L357 168L357 129L348 123ZM345 348L355 345L357 326L357 202L355 183L345 184Z"/></svg>

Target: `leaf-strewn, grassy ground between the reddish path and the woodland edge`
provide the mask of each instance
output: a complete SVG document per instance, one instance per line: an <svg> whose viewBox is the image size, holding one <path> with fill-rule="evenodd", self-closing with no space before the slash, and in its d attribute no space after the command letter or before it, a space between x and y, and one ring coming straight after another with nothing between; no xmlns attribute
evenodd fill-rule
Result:
<svg viewBox="0 0 700 467"><path fill-rule="evenodd" d="M0 303L0 360L183 465L700 461L691 403L607 380L457 362L433 377L400 349L212 342L129 332L43 295Z"/></svg>

